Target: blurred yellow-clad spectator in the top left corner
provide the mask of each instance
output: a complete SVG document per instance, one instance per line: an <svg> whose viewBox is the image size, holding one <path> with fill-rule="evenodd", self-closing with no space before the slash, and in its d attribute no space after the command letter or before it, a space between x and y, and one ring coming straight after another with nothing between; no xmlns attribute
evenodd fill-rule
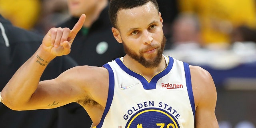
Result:
<svg viewBox="0 0 256 128"><path fill-rule="evenodd" d="M0 0L0 14L14 26L30 30L40 14L40 0Z"/></svg>

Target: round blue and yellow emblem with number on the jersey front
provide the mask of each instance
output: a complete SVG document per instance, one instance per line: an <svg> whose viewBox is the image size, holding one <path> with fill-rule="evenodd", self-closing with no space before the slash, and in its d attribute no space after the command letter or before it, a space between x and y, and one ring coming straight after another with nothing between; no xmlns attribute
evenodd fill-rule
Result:
<svg viewBox="0 0 256 128"><path fill-rule="evenodd" d="M144 108L131 116L125 128L180 128L176 118L160 108Z"/></svg>

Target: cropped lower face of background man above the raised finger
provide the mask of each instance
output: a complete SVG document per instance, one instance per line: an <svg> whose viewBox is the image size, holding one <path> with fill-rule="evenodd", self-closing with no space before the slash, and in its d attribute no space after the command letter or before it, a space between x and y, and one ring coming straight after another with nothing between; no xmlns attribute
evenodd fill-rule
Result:
<svg viewBox="0 0 256 128"><path fill-rule="evenodd" d="M68 0L68 10L72 16L90 14L95 11L99 0Z"/></svg>

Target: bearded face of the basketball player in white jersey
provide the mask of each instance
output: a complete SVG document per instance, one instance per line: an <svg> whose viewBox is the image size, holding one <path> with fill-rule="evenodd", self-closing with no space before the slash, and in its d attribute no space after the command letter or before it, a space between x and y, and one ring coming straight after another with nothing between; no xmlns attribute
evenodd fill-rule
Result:
<svg viewBox="0 0 256 128"><path fill-rule="evenodd" d="M154 4L119 10L117 27L128 56L146 68L160 64L166 39L161 15Z"/></svg>

